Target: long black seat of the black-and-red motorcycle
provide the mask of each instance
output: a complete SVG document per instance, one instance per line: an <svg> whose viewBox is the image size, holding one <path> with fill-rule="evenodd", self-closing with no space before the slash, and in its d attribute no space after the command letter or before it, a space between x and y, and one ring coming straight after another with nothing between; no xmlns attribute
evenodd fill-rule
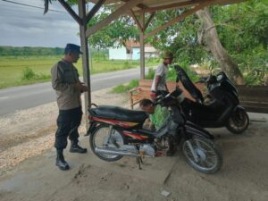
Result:
<svg viewBox="0 0 268 201"><path fill-rule="evenodd" d="M138 123L143 123L148 117L147 113L143 111L133 111L110 105L101 105L96 108L90 108L88 112L95 117Z"/></svg>

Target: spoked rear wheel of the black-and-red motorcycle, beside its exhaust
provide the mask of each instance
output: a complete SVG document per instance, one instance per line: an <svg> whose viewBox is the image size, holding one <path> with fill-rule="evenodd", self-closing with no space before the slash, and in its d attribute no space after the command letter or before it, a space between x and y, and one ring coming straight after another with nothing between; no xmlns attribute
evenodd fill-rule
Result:
<svg viewBox="0 0 268 201"><path fill-rule="evenodd" d="M100 159L107 162L114 162L121 159L122 155L106 155L96 153L95 148L107 148L109 146L113 146L113 144L117 144L119 146L124 144L124 138L121 135L119 130L112 130L111 138L109 138L109 126L108 125L100 125L96 127L96 129L91 133L89 138L89 145L93 153L99 157ZM113 141L113 143L112 143Z"/></svg>

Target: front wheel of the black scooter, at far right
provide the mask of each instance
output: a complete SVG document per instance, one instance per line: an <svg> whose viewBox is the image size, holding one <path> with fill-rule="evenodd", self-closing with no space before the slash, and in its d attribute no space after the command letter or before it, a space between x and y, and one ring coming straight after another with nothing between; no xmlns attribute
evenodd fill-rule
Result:
<svg viewBox="0 0 268 201"><path fill-rule="evenodd" d="M241 134L247 130L248 124L249 118L247 112L239 108L231 114L226 128L234 134Z"/></svg>

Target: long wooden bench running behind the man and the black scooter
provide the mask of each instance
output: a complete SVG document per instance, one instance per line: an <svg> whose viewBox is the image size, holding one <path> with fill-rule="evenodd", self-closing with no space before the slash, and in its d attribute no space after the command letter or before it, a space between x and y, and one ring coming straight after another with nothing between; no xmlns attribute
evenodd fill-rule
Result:
<svg viewBox="0 0 268 201"><path fill-rule="evenodd" d="M137 88L130 90L130 108L133 109L141 99L150 98L151 86L153 80L139 80ZM202 83L196 84L202 92L205 87ZM172 91L176 87L175 81L168 81L167 87ZM184 96L194 100L188 91L179 82ZM238 86L240 105L244 106L247 112L268 113L268 86Z"/></svg>

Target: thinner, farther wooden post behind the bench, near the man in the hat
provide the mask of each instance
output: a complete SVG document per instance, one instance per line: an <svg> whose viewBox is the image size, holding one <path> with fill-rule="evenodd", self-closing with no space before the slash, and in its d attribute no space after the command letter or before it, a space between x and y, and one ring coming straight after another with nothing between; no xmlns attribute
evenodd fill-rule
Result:
<svg viewBox="0 0 268 201"><path fill-rule="evenodd" d="M145 78L145 50L144 50L144 27L145 27L145 13L140 13L140 25L142 29L139 29L139 58L140 58L140 80Z"/></svg>

